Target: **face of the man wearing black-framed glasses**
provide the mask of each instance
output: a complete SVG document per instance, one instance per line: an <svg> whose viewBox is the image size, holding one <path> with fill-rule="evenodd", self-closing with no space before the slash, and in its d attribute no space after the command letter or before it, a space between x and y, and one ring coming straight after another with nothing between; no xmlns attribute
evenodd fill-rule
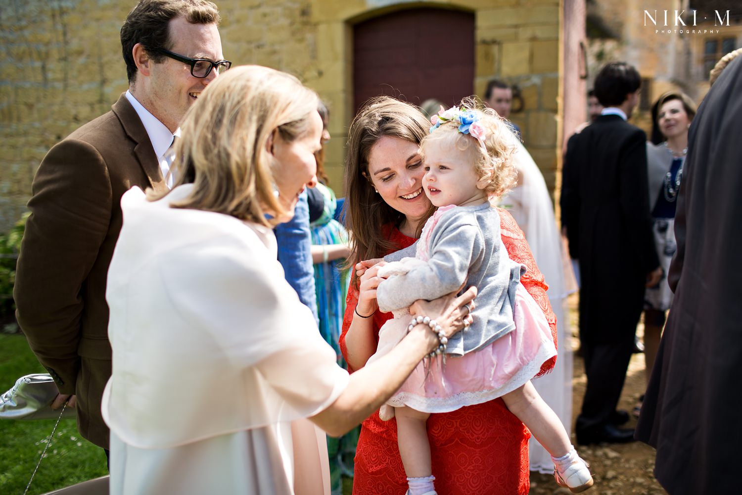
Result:
<svg viewBox="0 0 742 495"><path fill-rule="evenodd" d="M222 42L217 24L191 24L185 17L178 16L169 23L171 52L191 59L209 59L212 62L223 60ZM134 59L144 64L139 67L137 82L132 94L171 132L174 132L185 116L185 112L196 101L218 74L212 70L209 76L191 76L191 66L183 62L163 57L161 62L153 62L143 54Z"/></svg>

